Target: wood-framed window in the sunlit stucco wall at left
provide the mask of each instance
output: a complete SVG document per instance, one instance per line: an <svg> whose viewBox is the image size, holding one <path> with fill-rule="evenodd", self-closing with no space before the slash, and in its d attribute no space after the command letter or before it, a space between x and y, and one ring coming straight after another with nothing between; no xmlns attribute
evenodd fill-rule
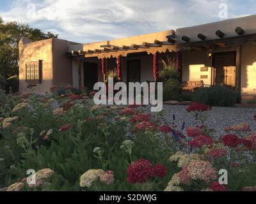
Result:
<svg viewBox="0 0 256 204"><path fill-rule="evenodd" d="M26 63L26 82L29 84L40 84L42 80L42 61Z"/></svg>

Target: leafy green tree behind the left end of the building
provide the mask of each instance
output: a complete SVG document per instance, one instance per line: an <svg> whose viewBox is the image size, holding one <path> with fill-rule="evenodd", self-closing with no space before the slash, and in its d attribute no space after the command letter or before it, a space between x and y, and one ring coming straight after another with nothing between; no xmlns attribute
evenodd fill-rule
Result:
<svg viewBox="0 0 256 204"><path fill-rule="evenodd" d="M27 24L4 22L0 17L0 75L3 77L19 75L19 41L22 37L38 41L58 38L58 35L43 33L40 29L33 29Z"/></svg>

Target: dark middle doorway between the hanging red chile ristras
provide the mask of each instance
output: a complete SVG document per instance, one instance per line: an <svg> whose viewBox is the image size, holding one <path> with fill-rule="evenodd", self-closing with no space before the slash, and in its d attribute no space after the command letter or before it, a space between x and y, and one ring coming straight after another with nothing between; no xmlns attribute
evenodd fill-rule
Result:
<svg viewBox="0 0 256 204"><path fill-rule="evenodd" d="M129 82L141 82L140 59L127 61L127 84Z"/></svg>

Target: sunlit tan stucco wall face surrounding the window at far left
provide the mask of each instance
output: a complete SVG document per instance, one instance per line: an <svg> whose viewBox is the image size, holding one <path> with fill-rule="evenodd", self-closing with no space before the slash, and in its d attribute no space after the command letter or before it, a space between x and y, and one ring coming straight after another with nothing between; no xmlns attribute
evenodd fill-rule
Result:
<svg viewBox="0 0 256 204"><path fill-rule="evenodd" d="M19 91L27 92L26 62L42 60L42 84L37 84L35 91L44 93L52 86L52 39L22 44L19 56Z"/></svg>

